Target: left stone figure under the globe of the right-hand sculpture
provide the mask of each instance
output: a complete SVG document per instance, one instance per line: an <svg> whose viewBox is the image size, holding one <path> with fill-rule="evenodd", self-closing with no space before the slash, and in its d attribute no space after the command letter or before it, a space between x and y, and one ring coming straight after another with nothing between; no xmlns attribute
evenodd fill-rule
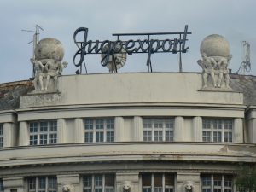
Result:
<svg viewBox="0 0 256 192"><path fill-rule="evenodd" d="M198 65L202 67L202 78L203 78L203 88L207 88L207 78L212 77L213 86L216 87L216 80L214 76L214 68L217 63L212 57L207 57L207 54L202 53L202 60L197 61Z"/></svg>

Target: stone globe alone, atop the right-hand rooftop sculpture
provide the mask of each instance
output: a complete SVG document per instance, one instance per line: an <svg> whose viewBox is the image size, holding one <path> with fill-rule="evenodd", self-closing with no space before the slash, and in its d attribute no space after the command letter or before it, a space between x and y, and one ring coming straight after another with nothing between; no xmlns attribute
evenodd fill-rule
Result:
<svg viewBox="0 0 256 192"><path fill-rule="evenodd" d="M218 61L220 57L230 56L230 44L223 36L212 34L202 40L200 52L201 55L205 53L208 57L213 57Z"/></svg>

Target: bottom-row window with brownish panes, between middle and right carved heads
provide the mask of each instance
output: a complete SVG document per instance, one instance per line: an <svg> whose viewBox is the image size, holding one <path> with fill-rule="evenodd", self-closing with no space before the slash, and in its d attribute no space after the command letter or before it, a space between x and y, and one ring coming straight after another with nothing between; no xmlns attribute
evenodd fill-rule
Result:
<svg viewBox="0 0 256 192"><path fill-rule="evenodd" d="M143 192L174 192L174 174L143 173Z"/></svg>

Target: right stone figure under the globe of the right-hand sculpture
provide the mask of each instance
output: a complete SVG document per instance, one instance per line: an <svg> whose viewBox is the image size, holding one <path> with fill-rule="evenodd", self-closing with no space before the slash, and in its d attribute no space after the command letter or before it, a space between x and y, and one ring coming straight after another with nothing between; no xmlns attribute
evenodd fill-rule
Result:
<svg viewBox="0 0 256 192"><path fill-rule="evenodd" d="M218 87L220 87L222 80L224 80L225 87L230 88L230 75L228 70L228 64L231 58L232 58L232 55L229 55L228 58L222 57L217 63L217 67L219 70Z"/></svg>

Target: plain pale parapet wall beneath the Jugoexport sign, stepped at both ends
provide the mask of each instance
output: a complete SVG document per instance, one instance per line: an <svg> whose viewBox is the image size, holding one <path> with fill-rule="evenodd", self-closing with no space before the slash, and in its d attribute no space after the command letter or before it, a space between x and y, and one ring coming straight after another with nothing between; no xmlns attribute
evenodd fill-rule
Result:
<svg viewBox="0 0 256 192"><path fill-rule="evenodd" d="M111 103L242 104L241 93L202 91L199 73L107 73L60 78L60 93L20 98L20 108Z"/></svg>

